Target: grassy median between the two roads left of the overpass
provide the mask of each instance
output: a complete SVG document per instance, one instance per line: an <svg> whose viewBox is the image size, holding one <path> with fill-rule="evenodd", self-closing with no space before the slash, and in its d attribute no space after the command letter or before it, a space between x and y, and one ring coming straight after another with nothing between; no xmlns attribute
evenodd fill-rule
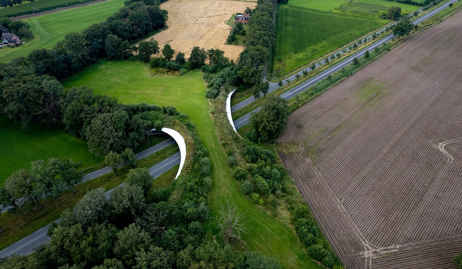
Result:
<svg viewBox="0 0 462 269"><path fill-rule="evenodd" d="M149 155L137 162L138 167L152 167L170 155L178 152L176 144L170 145L152 155ZM68 208L72 208L82 198L87 191L96 188L104 188L106 191L122 184L125 180L128 167L117 170L117 174L108 173L96 179L89 180L85 183L75 186L75 193L72 190L63 191L59 200L42 199L43 208L38 208L36 203L25 205L23 210L24 218L19 212L4 212L0 217L0 226L3 232L0 233L0 249L24 238L30 233L43 226L55 221L61 213ZM177 170L175 170L175 173Z"/></svg>

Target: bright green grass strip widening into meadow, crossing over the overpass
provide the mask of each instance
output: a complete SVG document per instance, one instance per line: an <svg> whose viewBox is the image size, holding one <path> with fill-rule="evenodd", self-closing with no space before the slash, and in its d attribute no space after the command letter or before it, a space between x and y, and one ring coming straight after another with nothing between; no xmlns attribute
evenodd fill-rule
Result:
<svg viewBox="0 0 462 269"><path fill-rule="evenodd" d="M247 211L249 222L246 226L250 230L243 235L243 240L250 250L277 257L285 268L322 268L305 253L289 226L267 215L239 190L226 164L226 155L209 114L205 86L198 71L183 76L152 75L144 63L101 60L64 84L66 87L85 85L95 94L107 94L122 103L173 105L179 112L186 113L195 124L212 161L211 214L218 216L221 203L228 199L236 203L240 211ZM207 227L207 232L218 233L213 224Z"/></svg>

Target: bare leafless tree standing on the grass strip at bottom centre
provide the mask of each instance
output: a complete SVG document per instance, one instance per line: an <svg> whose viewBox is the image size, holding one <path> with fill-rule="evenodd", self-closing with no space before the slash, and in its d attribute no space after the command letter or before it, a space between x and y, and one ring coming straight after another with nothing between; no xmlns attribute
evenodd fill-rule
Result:
<svg viewBox="0 0 462 269"><path fill-rule="evenodd" d="M221 204L220 216L218 219L214 218L216 222L213 224L220 228L220 234L224 237L225 245L228 242L235 243L241 240L241 233L246 233L249 230L244 226L247 221L240 223L246 217L246 212L237 212L236 204L230 203L228 200L226 200L226 207L223 206L223 203Z"/></svg>

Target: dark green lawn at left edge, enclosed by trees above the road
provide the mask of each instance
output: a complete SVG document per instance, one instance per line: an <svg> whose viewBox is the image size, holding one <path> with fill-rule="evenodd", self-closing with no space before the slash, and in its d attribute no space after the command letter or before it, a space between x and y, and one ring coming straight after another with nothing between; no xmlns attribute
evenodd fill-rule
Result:
<svg viewBox="0 0 462 269"><path fill-rule="evenodd" d="M25 131L3 116L0 126L0 186L16 170L30 168L31 161L71 158L82 162L82 167L103 161L88 152L85 141L64 132L37 125Z"/></svg>

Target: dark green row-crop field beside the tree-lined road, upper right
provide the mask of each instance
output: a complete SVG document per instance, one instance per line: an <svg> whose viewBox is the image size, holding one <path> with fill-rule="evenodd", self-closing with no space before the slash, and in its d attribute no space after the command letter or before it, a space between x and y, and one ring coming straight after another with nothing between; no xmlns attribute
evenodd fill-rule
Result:
<svg viewBox="0 0 462 269"><path fill-rule="evenodd" d="M387 22L372 16L280 6L273 70L286 74Z"/></svg>

